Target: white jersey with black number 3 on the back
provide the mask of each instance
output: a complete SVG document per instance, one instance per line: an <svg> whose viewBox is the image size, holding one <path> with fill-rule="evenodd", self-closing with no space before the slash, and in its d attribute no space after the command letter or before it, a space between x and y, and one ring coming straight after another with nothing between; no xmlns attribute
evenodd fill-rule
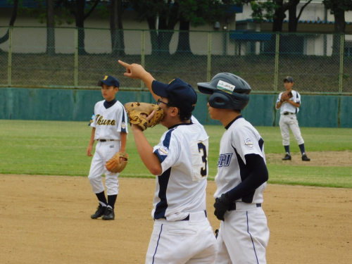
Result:
<svg viewBox="0 0 352 264"><path fill-rule="evenodd" d="M191 122L170 128L153 148L163 170L156 177L155 219L182 220L206 210L208 134L194 116Z"/></svg>

